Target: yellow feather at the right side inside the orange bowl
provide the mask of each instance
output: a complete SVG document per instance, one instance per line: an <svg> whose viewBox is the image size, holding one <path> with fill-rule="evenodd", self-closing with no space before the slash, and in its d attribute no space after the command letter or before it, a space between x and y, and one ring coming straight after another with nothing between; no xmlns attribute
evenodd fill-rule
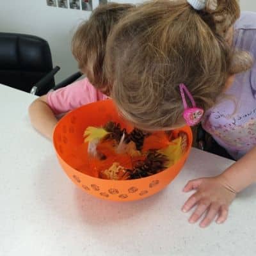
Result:
<svg viewBox="0 0 256 256"><path fill-rule="evenodd" d="M168 147L157 151L168 157L169 163L166 167L170 167L173 164L175 164L182 156L181 141L182 141L182 138L179 137L173 140Z"/></svg>

